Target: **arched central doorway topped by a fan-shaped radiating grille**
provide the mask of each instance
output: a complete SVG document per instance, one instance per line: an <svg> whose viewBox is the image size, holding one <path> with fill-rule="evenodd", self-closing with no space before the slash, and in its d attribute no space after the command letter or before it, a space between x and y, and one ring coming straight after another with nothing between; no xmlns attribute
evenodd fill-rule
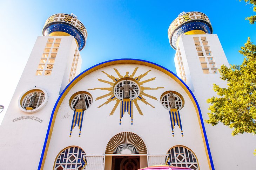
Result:
<svg viewBox="0 0 256 170"><path fill-rule="evenodd" d="M147 147L140 136L122 132L109 140L105 154L112 156L112 170L137 170L145 162Z"/></svg>

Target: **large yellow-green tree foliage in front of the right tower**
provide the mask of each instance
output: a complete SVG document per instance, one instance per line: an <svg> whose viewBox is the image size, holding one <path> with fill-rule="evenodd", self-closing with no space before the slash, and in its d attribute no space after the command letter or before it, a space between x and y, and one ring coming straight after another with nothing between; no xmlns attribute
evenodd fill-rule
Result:
<svg viewBox="0 0 256 170"><path fill-rule="evenodd" d="M232 135L244 132L256 134L256 45L250 38L239 51L245 56L241 65L221 66L221 79L227 81L227 88L214 84L218 97L207 100L209 106L207 123L218 122L234 129Z"/></svg>

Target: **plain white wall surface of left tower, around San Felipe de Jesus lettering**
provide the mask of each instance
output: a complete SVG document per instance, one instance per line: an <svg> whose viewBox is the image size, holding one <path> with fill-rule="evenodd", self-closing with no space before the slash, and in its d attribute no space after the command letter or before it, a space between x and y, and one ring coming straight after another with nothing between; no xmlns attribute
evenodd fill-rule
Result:
<svg viewBox="0 0 256 170"><path fill-rule="evenodd" d="M36 69L48 38L61 38L53 70L50 76L36 76ZM18 167L32 170L38 168L53 106L59 97L61 85L68 84L64 73L67 65L71 65L70 59L73 60L75 46L73 36L39 36L37 38L0 127L0 169ZM23 112L18 107L19 97L34 86L47 91L48 102L36 113ZM40 123L35 120L23 119L13 122L13 119L21 116L35 116L43 121ZM12 163L11 160L14 160L15 163Z"/></svg>

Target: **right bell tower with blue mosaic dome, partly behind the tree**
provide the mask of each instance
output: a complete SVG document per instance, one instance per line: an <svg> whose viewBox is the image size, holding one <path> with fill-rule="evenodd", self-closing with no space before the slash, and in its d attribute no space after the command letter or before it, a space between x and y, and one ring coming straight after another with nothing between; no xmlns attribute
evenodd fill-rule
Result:
<svg viewBox="0 0 256 170"><path fill-rule="evenodd" d="M168 37L171 47L176 50L174 62L177 75L195 95L201 109L202 119L208 120L209 104L206 100L216 96L213 84L227 87L227 82L220 79L221 75L218 72L221 65L229 67L220 40L216 34L213 34L209 18L201 12L179 14L170 24ZM255 142L250 134L231 136L231 129L222 123L216 127L206 123L204 125L216 169L230 169L231 162L238 167L235 162L240 160L236 155L252 154L252 149L248 148L253 148ZM244 141L247 141L250 147L246 149L241 147ZM252 161L253 158L247 156L244 159ZM226 162L230 164L227 165Z"/></svg>

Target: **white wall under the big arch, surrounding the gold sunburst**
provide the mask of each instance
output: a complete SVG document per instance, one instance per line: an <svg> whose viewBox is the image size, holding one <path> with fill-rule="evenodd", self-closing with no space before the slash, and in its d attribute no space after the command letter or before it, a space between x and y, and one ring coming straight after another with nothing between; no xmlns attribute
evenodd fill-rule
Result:
<svg viewBox="0 0 256 170"><path fill-rule="evenodd" d="M157 98L156 101L143 96L155 108L151 108L149 105L138 101L144 115L140 115L137 112L135 105L133 105L134 124L131 125L129 115L124 114L122 125L119 125L120 105L117 107L115 113L109 116L109 113L115 105L115 101L98 108L98 106L107 100L107 97L95 100L97 97L109 93L109 91L87 89L110 87L109 84L98 81L99 78L112 82L112 80L101 71L105 71L109 75L118 77L113 68L118 69L121 75L126 75L126 71L129 71L129 74L132 74L136 67L139 67L139 69L137 70L135 77L148 70L152 70L147 76L143 77L141 81L156 77L154 81L143 84L144 87L164 88L159 90L144 90L145 93ZM180 129L177 125L174 128L175 136L172 136L169 111L165 109L160 102L161 94L168 90L177 91L184 97L185 105L180 111L184 137L181 136ZM81 137L78 136L79 129L77 126L73 129L72 137L69 137L74 113L69 107L69 98L72 94L78 91L87 91L92 94L93 103L90 108L85 111ZM148 154L166 154L171 147L183 145L190 148L195 153L202 170L209 169L195 108L186 92L177 82L163 72L148 66L135 64L112 65L94 71L81 79L68 92L56 116L44 169L52 169L56 156L63 148L68 146L79 146L87 155L103 155L105 154L105 149L109 140L114 135L127 131L141 136L147 146Z"/></svg>

